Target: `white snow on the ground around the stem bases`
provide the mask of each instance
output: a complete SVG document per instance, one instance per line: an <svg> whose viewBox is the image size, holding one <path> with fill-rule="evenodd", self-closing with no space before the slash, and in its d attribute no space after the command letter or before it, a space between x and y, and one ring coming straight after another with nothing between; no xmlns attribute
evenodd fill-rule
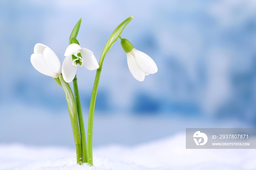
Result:
<svg viewBox="0 0 256 170"><path fill-rule="evenodd" d="M1 170L255 170L254 149L186 149L185 134L138 146L94 148L94 166L76 165L75 150L0 144Z"/></svg>

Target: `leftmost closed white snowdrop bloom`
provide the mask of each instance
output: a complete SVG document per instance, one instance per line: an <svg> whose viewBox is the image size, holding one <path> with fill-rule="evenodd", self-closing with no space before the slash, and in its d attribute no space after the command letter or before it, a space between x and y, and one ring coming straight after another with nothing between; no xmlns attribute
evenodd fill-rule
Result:
<svg viewBox="0 0 256 170"><path fill-rule="evenodd" d="M53 78L60 76L60 60L48 46L37 43L30 61L38 72Z"/></svg>

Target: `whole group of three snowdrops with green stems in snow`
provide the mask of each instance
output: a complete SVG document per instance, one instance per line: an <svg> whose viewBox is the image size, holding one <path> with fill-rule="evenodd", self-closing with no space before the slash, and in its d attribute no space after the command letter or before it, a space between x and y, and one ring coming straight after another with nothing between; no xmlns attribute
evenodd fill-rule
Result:
<svg viewBox="0 0 256 170"><path fill-rule="evenodd" d="M121 39L121 46L127 54L129 70L136 80L144 81L145 76L154 74L158 71L157 65L152 58L150 58L147 54L133 48L132 44L127 39L123 39L120 36L125 26L127 26L132 19L133 17L130 16L116 27L103 49L99 63L97 62L93 52L88 49L81 48L78 40L76 39L79 32L81 19L79 19L78 23L72 30L71 35L69 36L69 46L64 53L65 59L62 67L59 58L48 46L40 43L34 46L34 54L32 54L30 58L32 65L36 70L38 70L38 72L53 77L64 90L76 145L76 161L80 165L82 163L93 165L92 136L95 101L102 70L102 63L113 43L116 42L118 38ZM75 78L77 66L83 65L89 70L98 69L95 75L93 93L91 95L89 108L88 140L86 140L78 84ZM75 95L73 95L73 92L68 84L71 81L73 81Z"/></svg>

